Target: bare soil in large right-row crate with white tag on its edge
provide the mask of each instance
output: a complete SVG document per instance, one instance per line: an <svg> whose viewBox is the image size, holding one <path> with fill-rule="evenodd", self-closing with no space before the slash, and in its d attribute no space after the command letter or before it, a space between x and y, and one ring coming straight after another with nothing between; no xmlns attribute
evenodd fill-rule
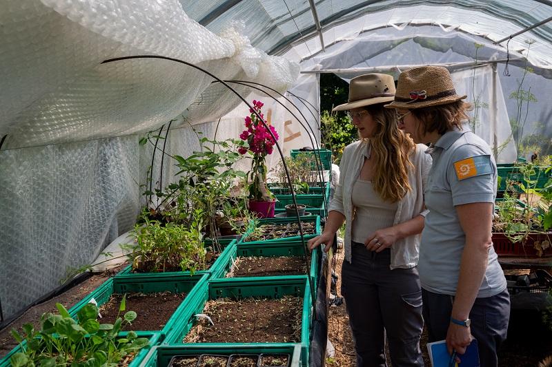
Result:
<svg viewBox="0 0 552 367"><path fill-rule="evenodd" d="M206 303L213 319L194 326L186 343L298 343L301 341L303 299L221 299Z"/></svg>

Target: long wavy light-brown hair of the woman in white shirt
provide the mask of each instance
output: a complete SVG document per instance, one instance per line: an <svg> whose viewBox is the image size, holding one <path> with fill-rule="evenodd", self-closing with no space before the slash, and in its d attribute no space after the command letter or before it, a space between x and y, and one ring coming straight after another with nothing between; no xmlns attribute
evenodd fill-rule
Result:
<svg viewBox="0 0 552 367"><path fill-rule="evenodd" d="M397 127L395 109L384 108L383 104L364 109L376 123L375 132L369 139L374 162L374 191L385 201L397 202L412 189L408 183L408 169L414 167L410 160L415 149L414 141Z"/></svg>

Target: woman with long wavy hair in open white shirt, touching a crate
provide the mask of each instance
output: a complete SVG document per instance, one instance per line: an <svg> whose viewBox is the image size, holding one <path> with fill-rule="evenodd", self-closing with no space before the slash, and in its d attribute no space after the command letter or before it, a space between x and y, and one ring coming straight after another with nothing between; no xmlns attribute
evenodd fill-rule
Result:
<svg viewBox="0 0 552 367"><path fill-rule="evenodd" d="M324 232L308 242L328 251L346 222L342 295L359 367L386 366L385 336L394 367L424 365L416 264L431 158L384 109L394 94L392 76L361 75L351 80L348 103L334 108L348 110L360 140L344 149Z"/></svg>

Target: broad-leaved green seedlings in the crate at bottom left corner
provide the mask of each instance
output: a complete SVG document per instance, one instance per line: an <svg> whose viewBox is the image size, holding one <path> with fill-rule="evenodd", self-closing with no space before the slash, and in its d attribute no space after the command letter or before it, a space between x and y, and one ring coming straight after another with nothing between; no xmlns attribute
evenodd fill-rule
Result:
<svg viewBox="0 0 552 367"><path fill-rule="evenodd" d="M126 308L125 299L121 301L119 313ZM59 315L44 313L40 330L35 330L32 324L23 325L23 335L12 329L12 336L18 343L26 341L21 344L23 352L10 358L12 366L112 367L148 345L148 339L138 337L134 331L118 337L121 328L136 319L134 311L128 311L122 318L117 315L115 324L100 324L95 304L83 306L77 319L73 319L63 305L57 303L56 306Z"/></svg>

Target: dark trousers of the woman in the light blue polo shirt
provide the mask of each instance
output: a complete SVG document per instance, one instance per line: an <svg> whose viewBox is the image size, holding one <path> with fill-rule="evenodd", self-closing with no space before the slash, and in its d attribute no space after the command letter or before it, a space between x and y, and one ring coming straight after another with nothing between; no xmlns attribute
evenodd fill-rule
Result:
<svg viewBox="0 0 552 367"><path fill-rule="evenodd" d="M424 319L429 342L446 338L454 297L422 290ZM498 365L497 350L506 339L510 319L510 295L504 289L493 297L475 298L470 311L471 335L477 339L481 367Z"/></svg>

